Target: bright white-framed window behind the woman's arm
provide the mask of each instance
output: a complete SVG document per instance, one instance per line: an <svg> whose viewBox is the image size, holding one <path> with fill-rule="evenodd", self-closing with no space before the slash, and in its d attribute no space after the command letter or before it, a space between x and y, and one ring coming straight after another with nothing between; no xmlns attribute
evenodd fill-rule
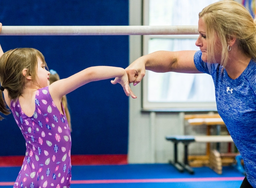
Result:
<svg viewBox="0 0 256 188"><path fill-rule="evenodd" d="M218 0L144 0L144 25L198 25L198 13ZM145 35L143 54L158 50L199 50L198 35ZM208 74L154 73L143 80L143 109L216 110L214 83Z"/></svg>

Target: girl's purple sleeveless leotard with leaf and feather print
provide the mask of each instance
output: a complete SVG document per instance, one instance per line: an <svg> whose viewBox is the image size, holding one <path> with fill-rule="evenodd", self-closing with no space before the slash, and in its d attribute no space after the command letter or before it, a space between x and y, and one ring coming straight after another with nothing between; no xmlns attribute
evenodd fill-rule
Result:
<svg viewBox="0 0 256 188"><path fill-rule="evenodd" d="M65 114L55 106L48 87L36 91L35 111L28 117L19 100L11 101L26 153L14 188L69 188L71 135Z"/></svg>

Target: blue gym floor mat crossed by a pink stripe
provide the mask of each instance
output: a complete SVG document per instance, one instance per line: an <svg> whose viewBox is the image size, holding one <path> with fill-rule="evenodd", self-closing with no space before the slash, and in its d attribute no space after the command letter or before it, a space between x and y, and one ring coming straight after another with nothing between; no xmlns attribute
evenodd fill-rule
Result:
<svg viewBox="0 0 256 188"><path fill-rule="evenodd" d="M188 172L180 173L169 164L73 166L72 181L74 184L71 184L71 188L239 188L244 177L231 166L223 167L221 175L208 167L193 169L195 173L191 175ZM20 167L0 168L0 182L14 182L19 171ZM239 180L230 180L229 177L239 177ZM203 179L197 181L198 178ZM224 179L211 180L210 178ZM181 179L182 182L172 182L176 179ZM95 183L88 183L88 180L95 180L93 181ZM113 180L114 183L108 183L105 180ZM125 183L118 183L118 180L124 180ZM135 180L134 183L133 180ZM149 182L138 183L136 180L149 180ZM150 182L151 180L158 182ZM164 182L165 180L171 182ZM0 188L11 187L13 186L0 186Z"/></svg>

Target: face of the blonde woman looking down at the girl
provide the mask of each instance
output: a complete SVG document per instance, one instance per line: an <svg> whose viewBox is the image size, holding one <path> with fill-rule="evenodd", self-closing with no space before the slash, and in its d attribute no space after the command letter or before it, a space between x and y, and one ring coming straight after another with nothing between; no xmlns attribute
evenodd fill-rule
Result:
<svg viewBox="0 0 256 188"><path fill-rule="evenodd" d="M200 48L202 52L202 60L207 62L207 36L206 36L206 25L202 18L198 20L198 32L199 37L197 38L196 45ZM221 62L221 53L222 53L222 45L218 37L216 37L216 41L214 42L214 58L216 62ZM210 62L211 63L211 62Z"/></svg>

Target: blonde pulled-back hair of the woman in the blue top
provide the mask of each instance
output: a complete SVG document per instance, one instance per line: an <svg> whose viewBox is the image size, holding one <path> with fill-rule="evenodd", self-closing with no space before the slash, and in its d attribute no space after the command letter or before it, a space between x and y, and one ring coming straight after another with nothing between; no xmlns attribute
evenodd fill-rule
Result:
<svg viewBox="0 0 256 188"><path fill-rule="evenodd" d="M221 65L225 67L228 61L228 41L236 38L239 49L252 59L256 59L255 22L251 14L242 4L234 0L222 0L210 4L199 13L206 25L206 40L208 62L214 62L214 49L218 37L222 45Z"/></svg>

